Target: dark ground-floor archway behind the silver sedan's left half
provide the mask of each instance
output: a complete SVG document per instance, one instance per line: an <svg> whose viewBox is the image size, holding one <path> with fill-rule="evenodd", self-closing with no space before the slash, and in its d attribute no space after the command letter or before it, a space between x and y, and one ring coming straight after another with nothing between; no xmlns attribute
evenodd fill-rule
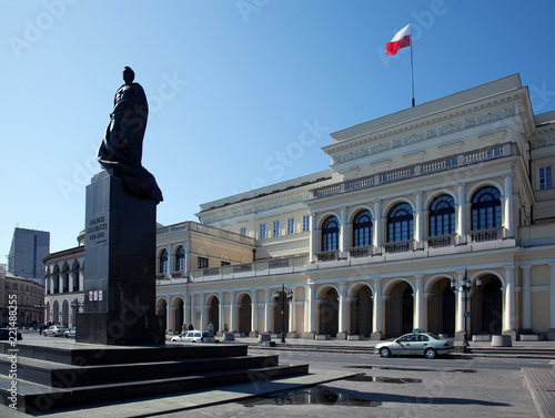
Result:
<svg viewBox="0 0 555 418"><path fill-rule="evenodd" d="M387 338L398 337L413 329L414 298L408 283L397 283L390 293L386 302Z"/></svg>

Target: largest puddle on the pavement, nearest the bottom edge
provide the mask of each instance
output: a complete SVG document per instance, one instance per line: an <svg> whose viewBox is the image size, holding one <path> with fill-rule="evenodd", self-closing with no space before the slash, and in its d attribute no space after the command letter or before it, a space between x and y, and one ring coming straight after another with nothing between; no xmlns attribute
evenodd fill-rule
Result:
<svg viewBox="0 0 555 418"><path fill-rule="evenodd" d="M350 407L377 407L382 405L380 401L360 399L349 395L347 391L331 389L325 386L301 388L295 391L246 399L239 404L248 408L252 408L256 405L331 405Z"/></svg>

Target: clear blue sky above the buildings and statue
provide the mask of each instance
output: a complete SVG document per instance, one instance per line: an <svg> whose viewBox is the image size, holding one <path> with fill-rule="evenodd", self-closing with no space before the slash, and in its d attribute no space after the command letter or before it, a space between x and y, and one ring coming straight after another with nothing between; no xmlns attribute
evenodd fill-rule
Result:
<svg viewBox="0 0 555 418"><path fill-rule="evenodd" d="M77 245L121 70L150 100L158 221L329 167L332 132L519 73L555 109L555 1L0 0L0 263L16 226ZM300 135L312 136L300 146Z"/></svg>

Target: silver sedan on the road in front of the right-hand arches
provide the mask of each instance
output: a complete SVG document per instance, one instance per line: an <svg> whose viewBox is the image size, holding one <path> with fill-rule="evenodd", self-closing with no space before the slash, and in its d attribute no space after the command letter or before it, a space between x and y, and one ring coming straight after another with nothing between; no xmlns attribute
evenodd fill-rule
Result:
<svg viewBox="0 0 555 418"><path fill-rule="evenodd" d="M376 344L374 354L379 354L382 357L401 355L435 358L437 355L453 353L454 348L453 340L451 339L415 329L413 333L405 334L393 341Z"/></svg>

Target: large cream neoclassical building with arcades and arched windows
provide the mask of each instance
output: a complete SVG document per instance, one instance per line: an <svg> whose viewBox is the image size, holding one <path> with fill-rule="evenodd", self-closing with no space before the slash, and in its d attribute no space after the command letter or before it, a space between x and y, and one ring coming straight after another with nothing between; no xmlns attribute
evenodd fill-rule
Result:
<svg viewBox="0 0 555 418"><path fill-rule="evenodd" d="M159 231L159 313L171 332L554 337L554 130L512 75L335 132L329 170Z"/></svg>

